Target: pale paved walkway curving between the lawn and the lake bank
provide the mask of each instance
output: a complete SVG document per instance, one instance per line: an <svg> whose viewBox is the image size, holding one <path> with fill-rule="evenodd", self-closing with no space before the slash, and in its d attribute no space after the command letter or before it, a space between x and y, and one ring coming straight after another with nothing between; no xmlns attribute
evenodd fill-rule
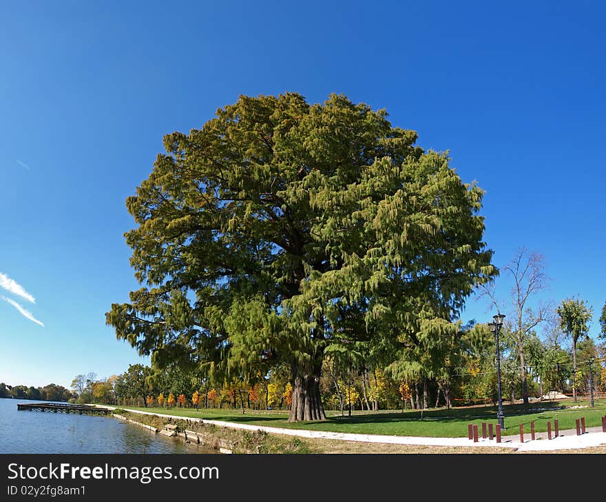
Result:
<svg viewBox="0 0 606 502"><path fill-rule="evenodd" d="M115 410L112 406L105 406ZM359 441L362 443L390 443L397 445L430 445L430 446L472 446L475 448L514 448L518 451L549 451L549 450L576 450L578 448L589 448L606 444L606 432L601 427L587 428L585 434L576 435L576 430L560 430L559 436L547 439L547 432L537 432L534 441L530 440L530 431L524 433L524 442L520 442L520 435L501 436L501 443L494 439L479 439L477 443L466 437L422 437L422 436L386 436L381 434L351 434L349 432L326 432L320 430L284 429L278 427L267 427L265 425L250 425L248 423L224 422L220 420L194 419L187 416L170 415L163 413L152 413L140 410L128 410L132 413L165 416L176 420L189 420L194 422L211 423L221 427L244 430L262 430L271 434L284 434L285 436L297 436L320 439L340 439L341 441ZM553 436L552 436L553 437Z"/></svg>

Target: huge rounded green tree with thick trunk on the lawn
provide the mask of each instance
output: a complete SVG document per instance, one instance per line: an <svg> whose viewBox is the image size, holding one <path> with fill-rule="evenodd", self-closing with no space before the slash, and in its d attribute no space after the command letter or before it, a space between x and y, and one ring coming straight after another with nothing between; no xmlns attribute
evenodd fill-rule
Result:
<svg viewBox="0 0 606 502"><path fill-rule="evenodd" d="M168 134L127 199L143 287L107 323L154 368L227 379L286 363L289 419L324 419L328 349L430 348L495 273L483 191L416 140L384 110L295 93L241 96Z"/></svg>

